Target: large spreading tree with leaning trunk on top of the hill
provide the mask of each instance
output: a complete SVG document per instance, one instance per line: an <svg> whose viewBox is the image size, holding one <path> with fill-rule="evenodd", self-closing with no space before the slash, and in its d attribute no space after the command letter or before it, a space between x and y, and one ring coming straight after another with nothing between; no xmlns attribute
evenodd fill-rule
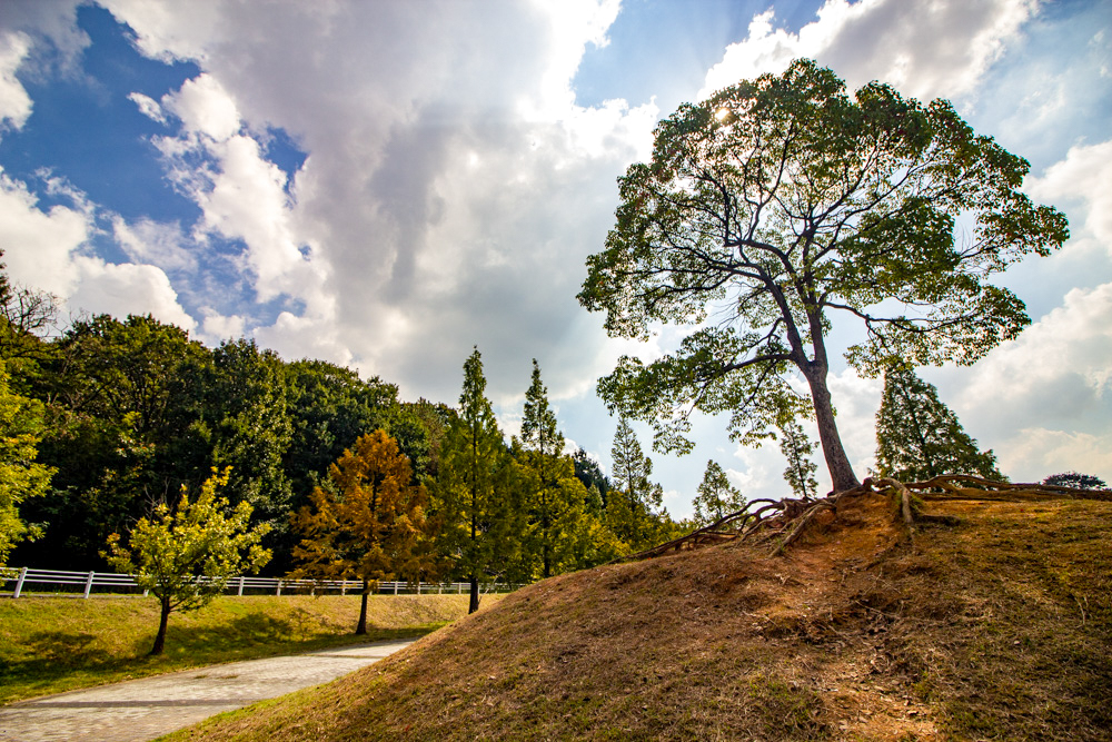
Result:
<svg viewBox="0 0 1112 742"><path fill-rule="evenodd" d="M612 336L693 329L651 364L623 357L600 396L652 422L658 448L689 451L694 410L763 436L802 374L834 488L856 485L826 383L834 317L863 323L846 358L865 373L893 357L971 364L1015 337L1030 319L991 276L1068 237L1063 215L1017 190L1027 167L944 100L876 82L851 98L807 60L681 106L652 161L619 178L578 298Z"/></svg>

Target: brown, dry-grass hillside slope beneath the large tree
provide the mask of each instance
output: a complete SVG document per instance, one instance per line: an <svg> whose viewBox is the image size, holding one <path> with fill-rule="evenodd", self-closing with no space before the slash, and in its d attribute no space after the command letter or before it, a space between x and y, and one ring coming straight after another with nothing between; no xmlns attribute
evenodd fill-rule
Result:
<svg viewBox="0 0 1112 742"><path fill-rule="evenodd" d="M927 512L546 580L175 739L1112 739L1112 503Z"/></svg>

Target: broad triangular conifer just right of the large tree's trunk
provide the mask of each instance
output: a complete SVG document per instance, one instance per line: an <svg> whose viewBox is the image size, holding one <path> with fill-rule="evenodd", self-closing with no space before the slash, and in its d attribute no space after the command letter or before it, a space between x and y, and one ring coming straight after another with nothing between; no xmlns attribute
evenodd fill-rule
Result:
<svg viewBox="0 0 1112 742"><path fill-rule="evenodd" d="M882 476L915 482L943 474L1004 479L992 451L981 452L939 399L939 390L906 365L884 373L876 414L876 467Z"/></svg>

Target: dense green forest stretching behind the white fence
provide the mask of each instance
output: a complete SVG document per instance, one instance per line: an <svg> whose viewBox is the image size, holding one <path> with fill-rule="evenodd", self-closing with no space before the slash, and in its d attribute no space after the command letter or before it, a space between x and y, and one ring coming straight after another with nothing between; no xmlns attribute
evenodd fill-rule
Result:
<svg viewBox="0 0 1112 742"><path fill-rule="evenodd" d="M427 493L421 537L431 558L401 578L477 571L484 578L529 581L612 560L682 528L661 508L652 464L624 423L613 477L585 452L564 452L536 365L522 439L485 423L494 426L496 451L485 466L499 505L475 513L461 495L459 467L441 465L446 447L469 445L461 433L450 434L466 428L460 410L474 400L461 397L459 407L406 402L377 376L360 378L324 360L285 360L244 338L206 347L151 316L98 315L51 330L53 298L6 279L2 299L4 394L23 410L36 466L50 474L46 486L14 498L24 531L8 564L107 570L110 534L127 534L159 504L172 508L182 492L197 492L214 468L230 467L224 496L232 505L250 503L252 524L269 525L265 545L274 557L264 574L288 574L305 535L295 515L318 488L344 497L329 466L376 431L397 443L410 463L410 484ZM477 350L465 370L465 394L467 384L473 394L478 384L481 397ZM486 534L480 564L464 564L467 540L453 536L470 525Z"/></svg>

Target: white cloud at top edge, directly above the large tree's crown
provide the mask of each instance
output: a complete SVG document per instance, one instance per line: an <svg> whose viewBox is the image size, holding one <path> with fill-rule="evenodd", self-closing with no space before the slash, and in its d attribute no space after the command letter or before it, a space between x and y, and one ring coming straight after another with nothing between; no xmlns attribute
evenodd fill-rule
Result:
<svg viewBox="0 0 1112 742"><path fill-rule="evenodd" d="M726 48L699 97L810 57L851 88L880 80L921 99L961 98L974 90L1036 7L1035 0L826 0L818 19L798 33L775 28L770 9L754 17L744 41Z"/></svg>

